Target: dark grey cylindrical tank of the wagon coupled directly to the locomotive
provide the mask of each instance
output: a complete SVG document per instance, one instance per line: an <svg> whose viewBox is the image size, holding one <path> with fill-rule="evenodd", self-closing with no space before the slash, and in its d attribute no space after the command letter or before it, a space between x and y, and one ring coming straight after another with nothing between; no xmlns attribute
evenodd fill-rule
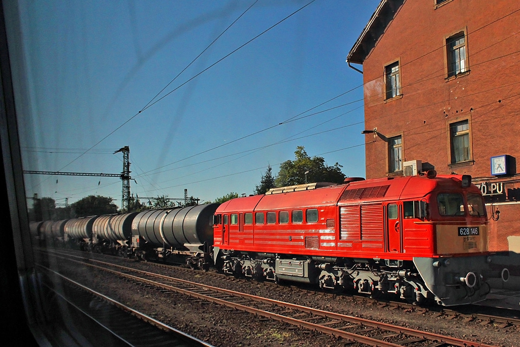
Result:
<svg viewBox="0 0 520 347"><path fill-rule="evenodd" d="M132 223L132 234L155 247L195 251L213 243L213 214L219 204L181 209L151 210L139 213Z"/></svg>

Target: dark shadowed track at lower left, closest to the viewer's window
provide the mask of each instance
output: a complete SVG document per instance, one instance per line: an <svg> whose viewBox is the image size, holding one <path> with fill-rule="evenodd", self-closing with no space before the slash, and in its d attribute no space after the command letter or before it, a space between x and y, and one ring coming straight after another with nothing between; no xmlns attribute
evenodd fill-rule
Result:
<svg viewBox="0 0 520 347"><path fill-rule="evenodd" d="M47 280L44 280L47 293L51 293L53 301L68 305L69 312L81 315L81 324L76 326L89 326L87 330L90 331L86 331L87 335L95 331L96 337L91 338L93 341L97 339L101 344L112 346L142 346L146 341L146 345L150 347L213 347L48 267L37 266L48 276ZM48 280L49 278L58 278L61 285L54 286L54 281Z"/></svg>

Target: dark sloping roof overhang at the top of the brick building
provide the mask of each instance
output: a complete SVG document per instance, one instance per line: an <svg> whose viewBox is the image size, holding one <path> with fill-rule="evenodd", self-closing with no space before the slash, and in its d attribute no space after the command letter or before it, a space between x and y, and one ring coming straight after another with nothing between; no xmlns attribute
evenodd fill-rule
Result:
<svg viewBox="0 0 520 347"><path fill-rule="evenodd" d="M346 60L348 63L362 64L365 61L405 1L381 0L365 29L350 49Z"/></svg>

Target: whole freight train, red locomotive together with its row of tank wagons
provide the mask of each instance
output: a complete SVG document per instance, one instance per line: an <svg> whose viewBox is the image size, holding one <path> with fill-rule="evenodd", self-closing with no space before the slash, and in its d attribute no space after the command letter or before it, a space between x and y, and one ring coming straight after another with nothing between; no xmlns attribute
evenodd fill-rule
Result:
<svg viewBox="0 0 520 347"><path fill-rule="evenodd" d="M33 223L34 236L225 274L409 302L482 301L488 217L469 175L347 178L179 209Z"/></svg>

